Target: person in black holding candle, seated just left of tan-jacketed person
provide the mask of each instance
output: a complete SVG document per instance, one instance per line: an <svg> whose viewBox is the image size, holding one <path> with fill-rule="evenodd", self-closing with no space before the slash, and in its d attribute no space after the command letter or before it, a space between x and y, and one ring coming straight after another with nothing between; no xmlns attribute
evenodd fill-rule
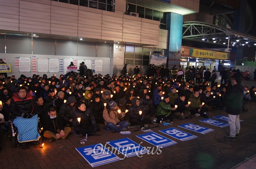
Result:
<svg viewBox="0 0 256 169"><path fill-rule="evenodd" d="M78 102L73 114L74 131L81 137L88 134L88 136L100 136L101 133L99 125L97 125L93 113L85 106L83 102Z"/></svg>

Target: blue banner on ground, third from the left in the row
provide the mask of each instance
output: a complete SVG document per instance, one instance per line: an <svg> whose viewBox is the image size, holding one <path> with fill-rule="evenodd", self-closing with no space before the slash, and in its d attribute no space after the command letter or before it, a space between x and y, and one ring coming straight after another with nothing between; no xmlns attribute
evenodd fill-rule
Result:
<svg viewBox="0 0 256 169"><path fill-rule="evenodd" d="M137 136L138 138L141 138L142 140L155 145L156 147L167 147L169 145L177 144L175 141L172 141L169 138L163 137L160 134L157 134L155 132L149 132L146 134L141 134Z"/></svg>

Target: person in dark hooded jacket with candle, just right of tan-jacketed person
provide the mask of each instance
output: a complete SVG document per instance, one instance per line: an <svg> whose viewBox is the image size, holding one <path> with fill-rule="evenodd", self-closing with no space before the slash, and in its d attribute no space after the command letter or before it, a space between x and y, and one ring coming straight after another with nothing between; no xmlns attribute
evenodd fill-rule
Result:
<svg viewBox="0 0 256 169"><path fill-rule="evenodd" d="M149 127L150 119L146 115L145 107L140 102L140 99L134 97L132 99L132 106L129 108L129 121L131 125L140 125L140 127Z"/></svg>

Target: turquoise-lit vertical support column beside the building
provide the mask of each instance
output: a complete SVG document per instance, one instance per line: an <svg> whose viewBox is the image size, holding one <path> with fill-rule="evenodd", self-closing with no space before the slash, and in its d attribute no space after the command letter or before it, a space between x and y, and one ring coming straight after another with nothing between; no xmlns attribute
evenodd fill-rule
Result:
<svg viewBox="0 0 256 169"><path fill-rule="evenodd" d="M183 16L177 13L168 13L167 18L169 35L166 54L168 55L168 65L172 68L173 65L181 64Z"/></svg>

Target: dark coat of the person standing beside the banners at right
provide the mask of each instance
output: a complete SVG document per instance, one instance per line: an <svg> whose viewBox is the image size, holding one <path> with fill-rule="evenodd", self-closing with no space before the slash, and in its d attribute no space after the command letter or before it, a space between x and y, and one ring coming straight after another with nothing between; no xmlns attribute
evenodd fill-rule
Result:
<svg viewBox="0 0 256 169"><path fill-rule="evenodd" d="M243 86L238 83L230 88L227 94L226 112L232 115L238 115L243 110Z"/></svg>

